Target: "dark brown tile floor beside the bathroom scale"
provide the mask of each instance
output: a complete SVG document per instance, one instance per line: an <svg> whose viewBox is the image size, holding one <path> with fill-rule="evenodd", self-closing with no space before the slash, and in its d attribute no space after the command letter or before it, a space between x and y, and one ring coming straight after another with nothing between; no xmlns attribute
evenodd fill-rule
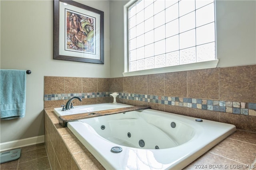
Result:
<svg viewBox="0 0 256 170"><path fill-rule="evenodd" d="M1 170L51 170L44 143L22 147L20 158L0 164Z"/></svg>

